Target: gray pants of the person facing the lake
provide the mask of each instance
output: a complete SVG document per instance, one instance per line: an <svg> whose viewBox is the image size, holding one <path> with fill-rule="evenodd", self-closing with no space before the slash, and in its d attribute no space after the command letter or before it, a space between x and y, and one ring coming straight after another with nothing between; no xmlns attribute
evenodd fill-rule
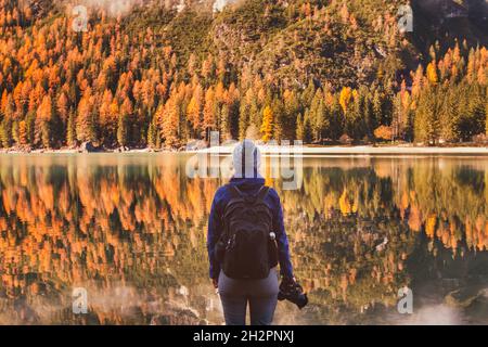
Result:
<svg viewBox="0 0 488 347"><path fill-rule="evenodd" d="M219 275L219 294L227 325L245 325L247 303L251 324L271 325L278 303L278 273L273 268L264 280L233 280Z"/></svg>

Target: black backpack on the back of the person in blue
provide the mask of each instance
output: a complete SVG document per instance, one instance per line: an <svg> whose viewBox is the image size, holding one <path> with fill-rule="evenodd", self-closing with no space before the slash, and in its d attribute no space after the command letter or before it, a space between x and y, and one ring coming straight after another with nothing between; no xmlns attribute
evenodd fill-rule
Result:
<svg viewBox="0 0 488 347"><path fill-rule="evenodd" d="M231 200L223 210L217 259L231 279L266 279L273 261L269 253L272 214L265 203L269 188L264 185L257 194L249 195L235 185L228 187Z"/></svg>

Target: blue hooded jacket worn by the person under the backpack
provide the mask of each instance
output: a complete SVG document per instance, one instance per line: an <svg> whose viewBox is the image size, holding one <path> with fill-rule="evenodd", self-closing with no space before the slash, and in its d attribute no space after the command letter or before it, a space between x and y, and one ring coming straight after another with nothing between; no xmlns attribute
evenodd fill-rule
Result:
<svg viewBox="0 0 488 347"><path fill-rule="evenodd" d="M230 184L237 185L240 190L246 193L257 193L265 185L264 178L232 178ZM211 203L210 216L208 219L207 249L208 259L210 261L210 278L217 279L220 273L220 264L215 259L215 245L219 241L223 231L222 216L226 205L231 198L229 189L220 187L214 196ZM279 262L281 274L286 278L293 278L293 267L290 261L288 239L283 224L283 209L281 207L280 197L274 189L270 189L265 198L265 203L270 207L273 215L273 231L277 234L277 243L279 250Z"/></svg>

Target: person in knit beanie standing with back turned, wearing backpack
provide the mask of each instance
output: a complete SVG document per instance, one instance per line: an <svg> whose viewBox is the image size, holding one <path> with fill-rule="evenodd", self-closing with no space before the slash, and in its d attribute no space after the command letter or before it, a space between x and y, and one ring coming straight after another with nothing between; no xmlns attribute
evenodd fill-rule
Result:
<svg viewBox="0 0 488 347"><path fill-rule="evenodd" d="M208 221L210 278L220 294L226 323L272 323L280 287L295 284L278 193L258 174L260 152L251 140L233 153L234 176L214 197Z"/></svg>

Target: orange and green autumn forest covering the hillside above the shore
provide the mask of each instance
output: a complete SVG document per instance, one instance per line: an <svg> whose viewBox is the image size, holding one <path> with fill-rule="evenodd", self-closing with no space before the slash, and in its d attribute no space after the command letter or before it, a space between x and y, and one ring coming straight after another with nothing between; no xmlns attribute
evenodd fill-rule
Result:
<svg viewBox="0 0 488 347"><path fill-rule="evenodd" d="M319 144L485 139L486 37L433 39L423 53L398 30L396 2L90 9L78 33L64 5L0 0L0 144L179 147L210 130Z"/></svg>

